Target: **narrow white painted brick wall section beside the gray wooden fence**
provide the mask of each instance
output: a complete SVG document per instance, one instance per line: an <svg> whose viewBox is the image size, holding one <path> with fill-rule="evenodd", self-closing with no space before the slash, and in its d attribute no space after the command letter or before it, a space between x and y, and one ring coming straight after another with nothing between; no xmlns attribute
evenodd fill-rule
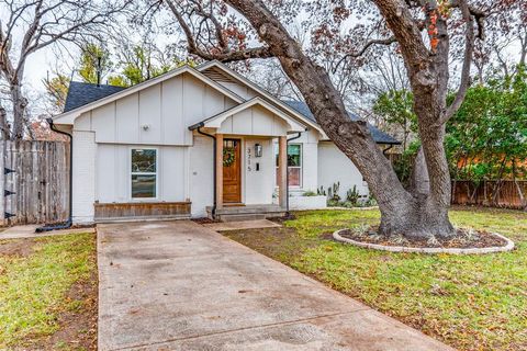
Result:
<svg viewBox="0 0 527 351"><path fill-rule="evenodd" d="M74 131L74 223L93 223L96 200L96 134Z"/></svg>

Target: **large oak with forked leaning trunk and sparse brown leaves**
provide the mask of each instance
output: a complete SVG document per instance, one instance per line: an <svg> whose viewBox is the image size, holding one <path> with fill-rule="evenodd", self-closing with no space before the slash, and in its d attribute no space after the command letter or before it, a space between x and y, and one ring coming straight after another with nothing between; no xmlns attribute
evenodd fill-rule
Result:
<svg viewBox="0 0 527 351"><path fill-rule="evenodd" d="M186 33L188 49L193 55L224 63L276 57L324 132L368 182L381 211L380 233L426 238L455 233L448 216L451 184L444 147L445 125L467 93L474 45L483 38L485 18L517 2L520 1L315 0L302 4L280 0L165 0L162 3ZM284 23L300 8L307 11L307 21L319 23L313 31L314 38L333 41L335 50L345 54L343 63L365 57L378 45L396 45L414 97L424 156L419 165L429 174L427 191L412 191L401 184L366 123L349 120L328 71L288 33ZM359 15L361 20L357 20ZM346 26L351 30L343 39ZM253 44L255 39L259 46ZM453 53L455 45L460 48L458 53ZM456 77L459 83L453 102L447 104L453 58L461 63L461 70Z"/></svg>

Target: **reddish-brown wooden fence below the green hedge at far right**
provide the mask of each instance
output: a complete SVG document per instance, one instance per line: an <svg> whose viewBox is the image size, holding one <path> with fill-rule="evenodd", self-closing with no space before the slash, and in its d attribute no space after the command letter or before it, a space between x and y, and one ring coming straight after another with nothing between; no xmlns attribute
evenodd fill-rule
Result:
<svg viewBox="0 0 527 351"><path fill-rule="evenodd" d="M527 211L527 181L453 181L452 204L507 207Z"/></svg>

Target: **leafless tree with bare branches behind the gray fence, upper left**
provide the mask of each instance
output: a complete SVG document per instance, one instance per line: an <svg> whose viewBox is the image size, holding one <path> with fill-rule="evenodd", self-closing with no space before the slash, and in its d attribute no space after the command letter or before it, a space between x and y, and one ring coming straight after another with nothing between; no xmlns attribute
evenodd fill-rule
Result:
<svg viewBox="0 0 527 351"><path fill-rule="evenodd" d="M0 79L8 87L11 138L23 138L27 128L24 69L27 58L48 46L81 43L100 37L115 23L132 0L4 0L0 3Z"/></svg>

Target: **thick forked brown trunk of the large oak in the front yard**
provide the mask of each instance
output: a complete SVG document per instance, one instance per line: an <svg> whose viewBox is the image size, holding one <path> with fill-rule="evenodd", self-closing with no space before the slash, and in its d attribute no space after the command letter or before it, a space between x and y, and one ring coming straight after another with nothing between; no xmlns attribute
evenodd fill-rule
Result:
<svg viewBox="0 0 527 351"><path fill-rule="evenodd" d="M419 135L430 176L430 194L417 196L403 188L390 161L370 135L366 122L354 122L349 118L343 99L327 72L303 54L299 44L266 5L256 0L227 2L257 30L260 38L280 60L284 72L302 92L324 132L365 177L379 203L380 231L384 235L424 238L433 235L450 236L453 233L448 218L450 177L442 147L445 126L438 123L445 111L445 105L440 102L445 100L446 84L437 88L437 76L442 75L440 78L446 79L446 82L448 72L445 76L430 71L431 61L426 50L423 53L423 63L410 69L413 88L424 88L421 94L417 94L415 110L419 122L425 123L423 127L419 125ZM396 12L396 9L393 11ZM416 30L414 34L414 38L408 38L408 45L417 46L421 32Z"/></svg>

